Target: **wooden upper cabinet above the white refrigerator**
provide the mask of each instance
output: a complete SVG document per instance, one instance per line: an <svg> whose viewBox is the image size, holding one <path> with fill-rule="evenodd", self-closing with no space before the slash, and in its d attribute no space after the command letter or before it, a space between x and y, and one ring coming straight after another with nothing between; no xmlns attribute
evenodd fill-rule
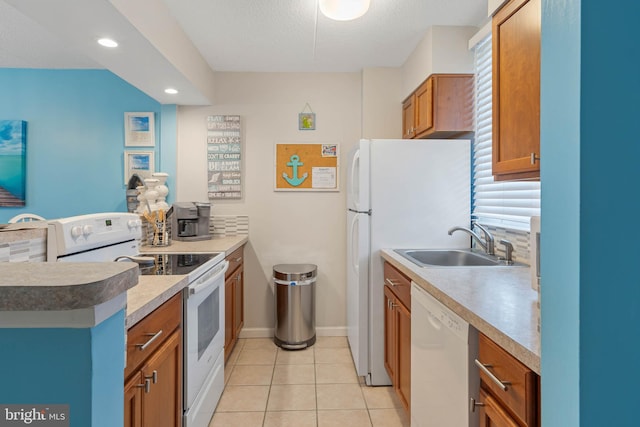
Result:
<svg viewBox="0 0 640 427"><path fill-rule="evenodd" d="M403 138L457 138L473 132L473 75L432 74L402 104Z"/></svg>

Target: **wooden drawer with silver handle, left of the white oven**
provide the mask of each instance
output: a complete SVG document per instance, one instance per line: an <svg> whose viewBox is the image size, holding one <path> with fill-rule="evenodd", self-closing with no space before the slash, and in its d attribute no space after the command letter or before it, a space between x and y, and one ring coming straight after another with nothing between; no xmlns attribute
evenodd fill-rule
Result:
<svg viewBox="0 0 640 427"><path fill-rule="evenodd" d="M129 329L125 378L169 338L181 319L182 295L178 293Z"/></svg>

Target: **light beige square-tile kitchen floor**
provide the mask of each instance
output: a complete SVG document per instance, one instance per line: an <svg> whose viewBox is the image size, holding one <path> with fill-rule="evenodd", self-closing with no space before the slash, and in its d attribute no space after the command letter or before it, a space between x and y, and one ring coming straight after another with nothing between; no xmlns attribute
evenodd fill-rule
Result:
<svg viewBox="0 0 640 427"><path fill-rule="evenodd" d="M408 427L391 387L356 376L345 337L287 351L272 339L240 339L209 427Z"/></svg>

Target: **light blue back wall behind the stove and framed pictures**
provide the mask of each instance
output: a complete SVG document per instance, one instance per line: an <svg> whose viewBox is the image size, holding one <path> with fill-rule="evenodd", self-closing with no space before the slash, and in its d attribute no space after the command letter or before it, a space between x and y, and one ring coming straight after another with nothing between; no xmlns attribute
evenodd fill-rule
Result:
<svg viewBox="0 0 640 427"><path fill-rule="evenodd" d="M105 70L0 69L0 119L27 121L26 207L0 207L0 223L30 212L45 218L126 212L124 113L156 113L156 170L175 193L175 106L157 101ZM159 156L162 149L168 155ZM127 147L130 149L130 147ZM146 148L140 148L146 150Z"/></svg>

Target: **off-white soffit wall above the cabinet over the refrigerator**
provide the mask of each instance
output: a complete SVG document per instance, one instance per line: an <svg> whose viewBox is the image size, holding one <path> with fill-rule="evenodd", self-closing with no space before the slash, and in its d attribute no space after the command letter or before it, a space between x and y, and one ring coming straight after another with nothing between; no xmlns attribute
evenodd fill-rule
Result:
<svg viewBox="0 0 640 427"><path fill-rule="evenodd" d="M406 98L434 73L473 73L469 39L476 27L433 26L402 66L402 93Z"/></svg>

